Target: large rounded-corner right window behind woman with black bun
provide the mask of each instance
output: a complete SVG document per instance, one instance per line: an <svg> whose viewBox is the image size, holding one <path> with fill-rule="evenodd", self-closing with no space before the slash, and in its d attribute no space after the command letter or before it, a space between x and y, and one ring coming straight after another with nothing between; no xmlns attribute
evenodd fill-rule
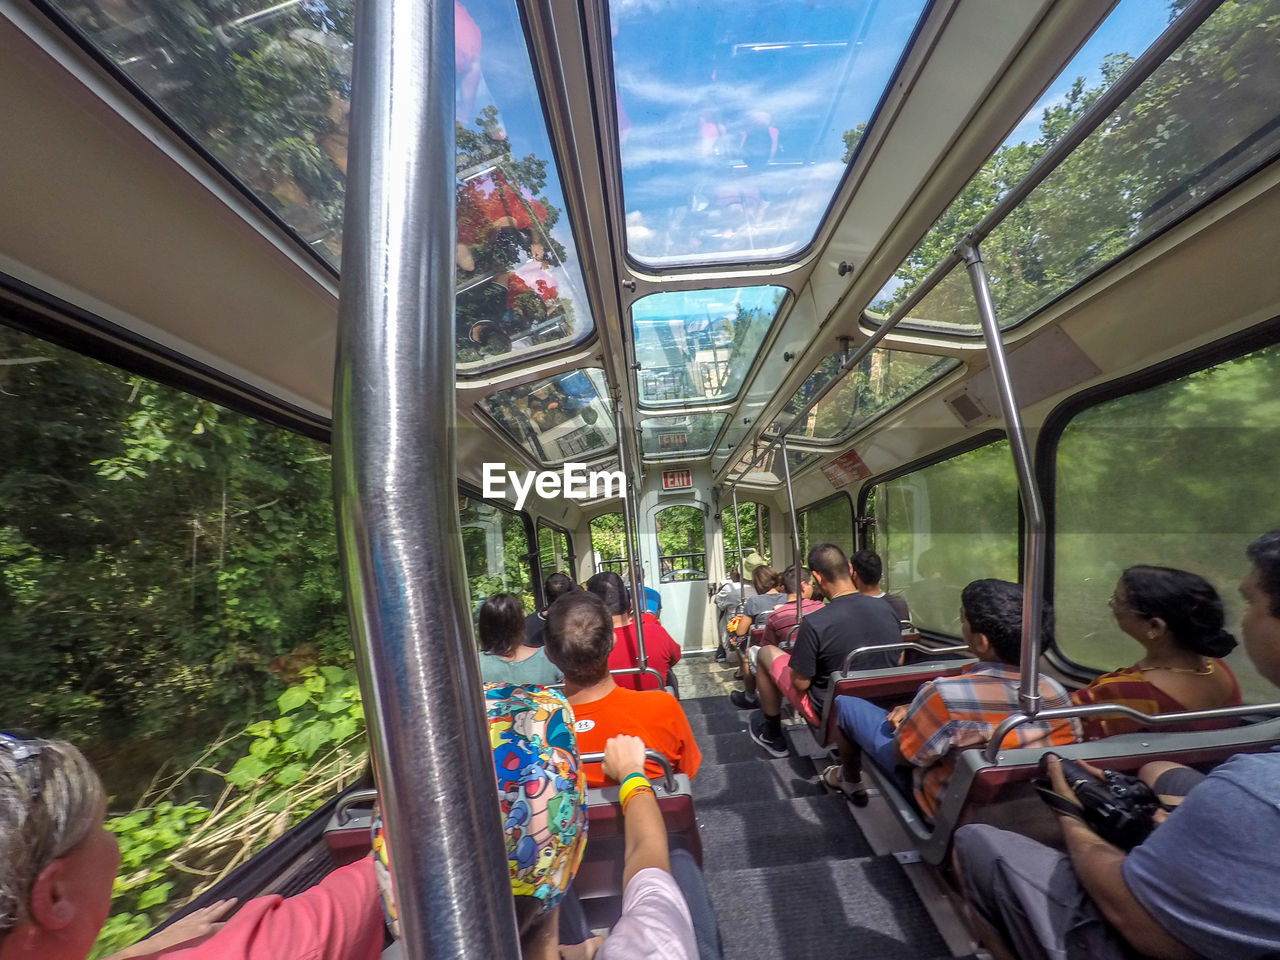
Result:
<svg viewBox="0 0 1280 960"><path fill-rule="evenodd" d="M1140 657L1107 608L1116 579L1138 563L1207 579L1239 636L1244 548L1277 522L1277 425L1280 346L1105 401L1066 425L1053 536L1062 653L1100 669ZM1239 648L1228 663L1245 700L1275 699Z"/></svg>

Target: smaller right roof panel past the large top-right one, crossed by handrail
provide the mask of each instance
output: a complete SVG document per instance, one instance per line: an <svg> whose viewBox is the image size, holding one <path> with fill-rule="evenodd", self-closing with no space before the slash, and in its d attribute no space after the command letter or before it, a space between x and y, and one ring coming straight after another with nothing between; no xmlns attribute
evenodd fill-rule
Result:
<svg viewBox="0 0 1280 960"><path fill-rule="evenodd" d="M782 408L774 429L783 429L809 398L822 390L840 370L841 355L832 353L809 375ZM876 348L850 371L831 393L809 411L787 436L820 443L844 443L859 429L891 407L960 366L952 357L931 357L901 349Z"/></svg>

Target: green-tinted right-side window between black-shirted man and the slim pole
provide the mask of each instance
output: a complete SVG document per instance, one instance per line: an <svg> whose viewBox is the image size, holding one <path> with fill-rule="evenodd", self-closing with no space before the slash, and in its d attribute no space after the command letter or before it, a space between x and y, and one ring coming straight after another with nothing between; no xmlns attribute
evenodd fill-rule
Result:
<svg viewBox="0 0 1280 960"><path fill-rule="evenodd" d="M960 636L960 591L1019 580L1018 480L1005 440L879 484L869 545L918 627Z"/></svg>

